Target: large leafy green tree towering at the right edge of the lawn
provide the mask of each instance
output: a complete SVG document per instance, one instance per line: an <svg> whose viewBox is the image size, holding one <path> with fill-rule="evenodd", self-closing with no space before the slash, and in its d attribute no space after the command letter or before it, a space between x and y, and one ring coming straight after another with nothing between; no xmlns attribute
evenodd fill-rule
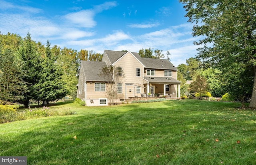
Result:
<svg viewBox="0 0 256 165"><path fill-rule="evenodd" d="M204 39L197 58L206 66L253 73L250 107L256 108L256 3L254 0L179 0L187 11L188 21L194 23L193 36ZM250 69L251 68L251 69ZM235 75L234 75L235 76ZM245 76L237 75L236 84L244 84ZM233 82L230 81L230 85ZM234 82L235 83L235 82ZM236 85L233 84L233 85ZM232 90L232 89L231 89ZM245 91L240 91L246 95Z"/></svg>

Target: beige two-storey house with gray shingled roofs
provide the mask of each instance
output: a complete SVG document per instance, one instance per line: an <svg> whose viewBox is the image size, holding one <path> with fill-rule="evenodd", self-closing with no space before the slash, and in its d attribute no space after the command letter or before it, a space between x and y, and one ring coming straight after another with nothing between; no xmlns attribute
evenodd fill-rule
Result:
<svg viewBox="0 0 256 165"><path fill-rule="evenodd" d="M180 97L178 69L168 60L141 58L138 53L130 51L104 50L102 62L81 62L77 97L84 100L87 106L108 105L107 84L99 74L103 68L112 66L120 70L120 75L125 74L122 83L118 84L115 102L141 97L143 93L166 97L177 97L178 94Z"/></svg>

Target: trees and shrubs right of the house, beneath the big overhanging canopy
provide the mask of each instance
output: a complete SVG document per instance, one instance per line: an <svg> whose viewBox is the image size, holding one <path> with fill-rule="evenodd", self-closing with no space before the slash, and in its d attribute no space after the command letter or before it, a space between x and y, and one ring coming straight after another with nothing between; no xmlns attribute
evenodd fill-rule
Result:
<svg viewBox="0 0 256 165"><path fill-rule="evenodd" d="M216 68L205 66L197 58L189 58L186 64L178 65L177 79L181 83L181 95L189 97L207 95L213 97L227 96L230 101L241 101L244 103L250 100L252 95L253 71L250 68ZM190 80L191 84L186 83Z"/></svg>

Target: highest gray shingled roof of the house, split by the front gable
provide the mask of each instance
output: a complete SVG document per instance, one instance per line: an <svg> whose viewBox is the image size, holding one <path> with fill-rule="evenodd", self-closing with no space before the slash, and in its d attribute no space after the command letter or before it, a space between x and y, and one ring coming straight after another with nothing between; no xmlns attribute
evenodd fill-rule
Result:
<svg viewBox="0 0 256 165"><path fill-rule="evenodd" d="M121 58L126 52L113 51L113 50L104 50L111 62L113 64ZM166 69L166 70L178 70L171 62L166 59L155 59L155 58L141 58L140 55L136 52L132 54L144 65L146 68L152 69Z"/></svg>

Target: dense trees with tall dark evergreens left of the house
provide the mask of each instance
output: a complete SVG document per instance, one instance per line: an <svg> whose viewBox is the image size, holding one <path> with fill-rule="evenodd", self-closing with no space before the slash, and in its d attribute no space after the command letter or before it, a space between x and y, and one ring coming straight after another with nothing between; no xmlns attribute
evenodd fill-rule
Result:
<svg viewBox="0 0 256 165"><path fill-rule="evenodd" d="M101 61L102 54L51 47L18 34L0 34L0 103L31 101L42 105L66 95L76 97L81 60Z"/></svg>

